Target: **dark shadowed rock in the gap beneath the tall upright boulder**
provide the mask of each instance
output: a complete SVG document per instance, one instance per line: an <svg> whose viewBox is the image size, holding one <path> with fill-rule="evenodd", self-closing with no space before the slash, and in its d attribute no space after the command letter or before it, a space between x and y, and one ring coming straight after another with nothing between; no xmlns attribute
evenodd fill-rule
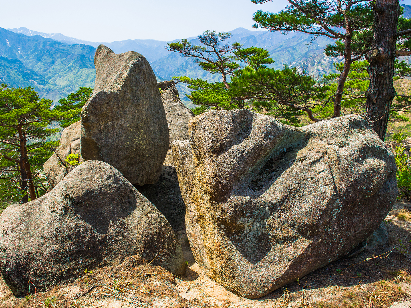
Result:
<svg viewBox="0 0 411 308"><path fill-rule="evenodd" d="M136 188L162 212L173 229L177 230L181 224L184 225L185 204L181 197L171 150L167 153L158 182Z"/></svg>

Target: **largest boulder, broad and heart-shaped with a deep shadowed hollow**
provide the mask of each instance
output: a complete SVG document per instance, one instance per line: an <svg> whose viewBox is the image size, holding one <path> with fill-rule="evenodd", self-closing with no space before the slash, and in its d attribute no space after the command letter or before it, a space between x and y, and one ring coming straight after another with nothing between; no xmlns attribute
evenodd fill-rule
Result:
<svg viewBox="0 0 411 308"><path fill-rule="evenodd" d="M357 115L296 128L212 110L171 149L196 262L250 299L347 254L397 195L393 154Z"/></svg>

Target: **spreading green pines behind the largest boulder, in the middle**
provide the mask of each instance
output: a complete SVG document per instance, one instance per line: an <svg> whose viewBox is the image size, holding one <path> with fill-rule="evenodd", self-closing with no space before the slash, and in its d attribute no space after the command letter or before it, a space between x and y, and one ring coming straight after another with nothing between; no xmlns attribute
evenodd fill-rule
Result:
<svg viewBox="0 0 411 308"><path fill-rule="evenodd" d="M170 43L166 49L194 57L195 61L212 74L220 74L223 82L209 83L200 78L174 77L187 84L192 90L186 95L195 105L194 115L210 108L238 109L254 105L255 110L265 111L286 124L297 125L302 111L310 112L307 106L300 106L312 100L318 91L316 81L296 68L269 69L267 64L274 60L263 48L241 48L239 43L229 43L230 33L216 34L206 31L199 36L203 45L193 46L187 39ZM245 67L238 63L244 63ZM227 77L231 81L227 81ZM315 92L315 94L314 94Z"/></svg>

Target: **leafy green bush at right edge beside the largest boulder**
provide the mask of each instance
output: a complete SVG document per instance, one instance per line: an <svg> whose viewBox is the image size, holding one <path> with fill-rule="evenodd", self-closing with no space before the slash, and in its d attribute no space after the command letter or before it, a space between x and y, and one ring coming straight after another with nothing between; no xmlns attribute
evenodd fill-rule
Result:
<svg viewBox="0 0 411 308"><path fill-rule="evenodd" d="M407 138L402 129L393 135L397 141L395 147L395 163L397 164L397 185L399 190L398 198L411 199L411 167L410 157L406 154L406 149L402 145L402 140Z"/></svg>

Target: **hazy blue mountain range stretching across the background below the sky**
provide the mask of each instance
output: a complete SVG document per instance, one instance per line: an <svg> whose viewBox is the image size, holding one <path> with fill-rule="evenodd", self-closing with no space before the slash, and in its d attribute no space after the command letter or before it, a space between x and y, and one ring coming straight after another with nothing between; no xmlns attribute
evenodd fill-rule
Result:
<svg viewBox="0 0 411 308"><path fill-rule="evenodd" d="M411 18L411 5L402 5L404 17ZM268 50L275 62L271 67L280 69L284 64L305 69L309 74L322 76L335 72L334 61L323 54L323 48L332 43L327 37L312 41L309 34L293 32L281 34L269 31L250 31L237 28L229 31L230 41L244 47L261 47ZM181 39L181 38L180 38ZM191 44L199 44L197 37L188 38ZM79 87L94 87L94 53L104 44L115 53L137 51L150 62L158 80L170 80L173 76L203 78L221 81L217 75L203 71L190 57L167 51L167 43L178 41L153 39L128 39L113 42L91 42L67 37L61 33L43 33L27 28L0 28L0 83L10 87L35 88L41 97L55 102ZM189 93L179 84L182 94ZM189 104L184 95L180 97Z"/></svg>

